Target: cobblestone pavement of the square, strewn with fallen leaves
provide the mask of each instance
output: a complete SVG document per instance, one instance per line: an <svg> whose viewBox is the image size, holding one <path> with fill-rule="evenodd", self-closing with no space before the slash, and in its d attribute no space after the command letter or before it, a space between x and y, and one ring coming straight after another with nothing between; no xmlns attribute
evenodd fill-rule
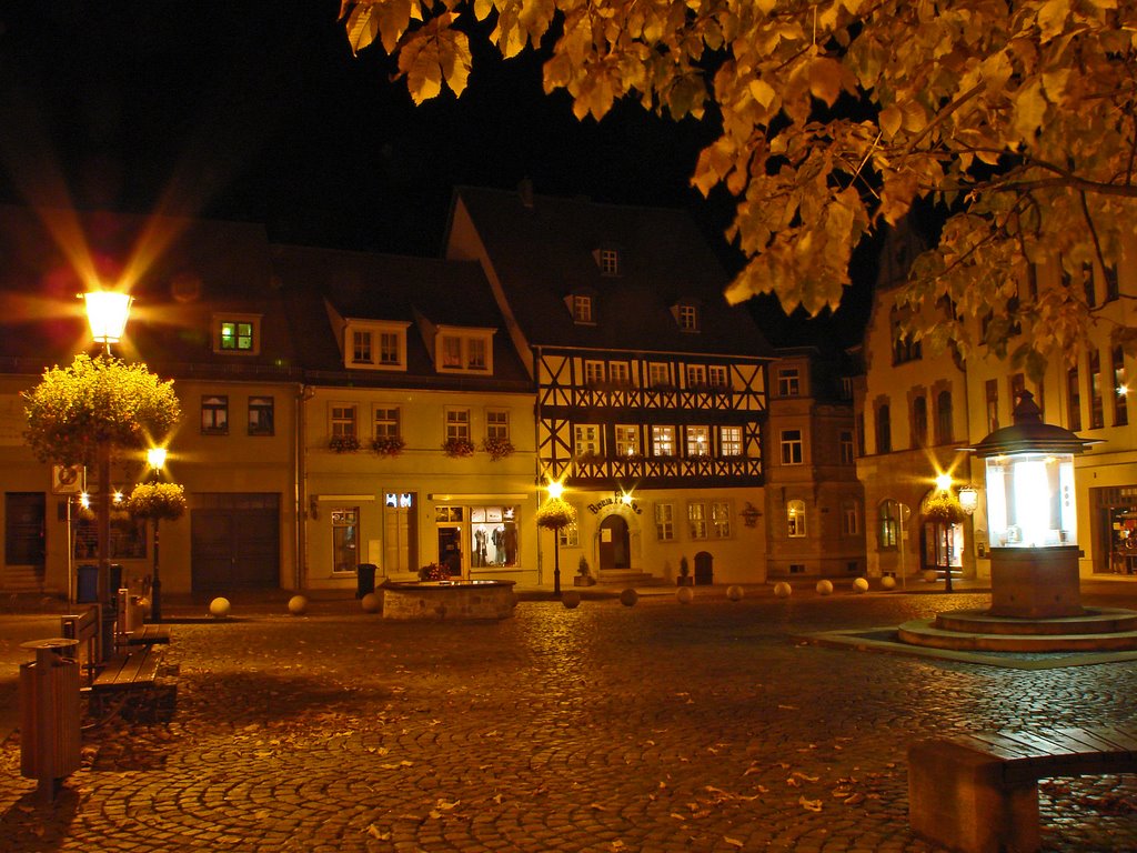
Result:
<svg viewBox="0 0 1137 853"><path fill-rule="evenodd" d="M523 602L492 624L354 602L175 624L176 710L88 731L53 805L3 744L0 850L931 851L907 826L913 739L1132 720L1137 663L1024 672L794 638L986 596L697 591ZM1041 800L1047 850L1137 850L1134 777Z"/></svg>

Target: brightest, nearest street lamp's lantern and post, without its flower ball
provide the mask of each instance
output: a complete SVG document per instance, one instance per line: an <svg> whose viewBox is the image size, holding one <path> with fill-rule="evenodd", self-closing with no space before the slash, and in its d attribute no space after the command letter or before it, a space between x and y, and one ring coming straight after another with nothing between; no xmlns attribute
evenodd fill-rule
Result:
<svg viewBox="0 0 1137 853"><path fill-rule="evenodd" d="M93 290L81 293L86 308L86 321L91 326L91 337L103 346L106 356L110 356L110 345L117 343L126 329L133 299L126 293L108 290ZM99 635L99 655L102 660L110 656L115 641L114 598L110 594L110 442L102 439L96 449L99 475L99 499L96 503L96 533L99 544L98 598L102 613L101 632Z"/></svg>

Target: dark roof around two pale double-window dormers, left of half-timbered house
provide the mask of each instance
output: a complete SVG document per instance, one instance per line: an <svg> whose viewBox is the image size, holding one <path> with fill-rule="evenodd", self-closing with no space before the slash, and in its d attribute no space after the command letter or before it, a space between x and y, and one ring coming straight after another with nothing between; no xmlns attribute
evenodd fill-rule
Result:
<svg viewBox="0 0 1137 853"><path fill-rule="evenodd" d="M398 255L273 247L273 270L289 303L297 347L306 370L321 381L367 386L529 388L528 375L504 330L485 276L475 263ZM329 318L330 305L345 320L409 323L407 371L351 370ZM416 321L492 329L493 376L439 374Z"/></svg>

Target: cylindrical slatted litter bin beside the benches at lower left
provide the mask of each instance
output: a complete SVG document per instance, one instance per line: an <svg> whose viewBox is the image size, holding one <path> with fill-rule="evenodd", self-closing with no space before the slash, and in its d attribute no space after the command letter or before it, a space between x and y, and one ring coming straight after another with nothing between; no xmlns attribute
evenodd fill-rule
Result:
<svg viewBox="0 0 1137 853"><path fill-rule="evenodd" d="M80 765L78 664L63 656L77 645L61 637L20 644L35 661L19 668L19 771L39 780L48 803Z"/></svg>

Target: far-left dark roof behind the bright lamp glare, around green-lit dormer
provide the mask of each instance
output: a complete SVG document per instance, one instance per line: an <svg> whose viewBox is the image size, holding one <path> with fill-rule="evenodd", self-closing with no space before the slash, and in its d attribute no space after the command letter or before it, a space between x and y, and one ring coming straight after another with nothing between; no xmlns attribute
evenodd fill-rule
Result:
<svg viewBox="0 0 1137 853"><path fill-rule="evenodd" d="M0 205L0 356L68 363L91 349L92 278L134 296L116 354L165 374L287 374L293 351L260 225ZM216 312L262 316L257 355L213 351ZM15 362L9 361L9 368Z"/></svg>

